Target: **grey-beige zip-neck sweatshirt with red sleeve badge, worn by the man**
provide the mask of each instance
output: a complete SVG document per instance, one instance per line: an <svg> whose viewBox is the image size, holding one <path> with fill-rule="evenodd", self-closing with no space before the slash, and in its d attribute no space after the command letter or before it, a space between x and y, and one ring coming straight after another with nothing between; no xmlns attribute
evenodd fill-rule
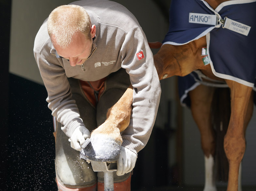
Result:
<svg viewBox="0 0 256 191"><path fill-rule="evenodd" d="M71 137L84 124L67 78L95 81L120 68L126 69L133 86L133 109L130 124L122 132L122 146L137 153L150 137L161 95L146 36L136 18L118 3L82 0L71 4L84 7L96 26L92 55L84 64L70 66L68 60L58 56L51 43L47 19L43 22L35 38L34 56L48 92L48 107L63 125L65 134Z"/></svg>

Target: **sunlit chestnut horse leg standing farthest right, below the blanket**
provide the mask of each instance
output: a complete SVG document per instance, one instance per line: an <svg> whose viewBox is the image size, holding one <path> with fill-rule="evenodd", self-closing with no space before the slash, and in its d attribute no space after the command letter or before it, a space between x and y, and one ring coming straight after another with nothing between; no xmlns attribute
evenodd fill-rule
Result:
<svg viewBox="0 0 256 191"><path fill-rule="evenodd" d="M248 105L251 104L252 88L226 80L231 92L231 116L224 138L224 149L229 161L229 181L227 191L238 190L239 165L246 149L245 125L248 120Z"/></svg>

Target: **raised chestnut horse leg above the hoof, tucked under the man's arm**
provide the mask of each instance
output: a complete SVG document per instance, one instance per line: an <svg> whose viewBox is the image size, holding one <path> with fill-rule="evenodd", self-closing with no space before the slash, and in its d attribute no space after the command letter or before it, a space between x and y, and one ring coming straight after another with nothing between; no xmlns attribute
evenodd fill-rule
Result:
<svg viewBox="0 0 256 191"><path fill-rule="evenodd" d="M107 113L106 121L91 133L91 138L111 138L122 144L120 132L125 130L130 123L133 101L133 88L130 85L123 96L116 102Z"/></svg>

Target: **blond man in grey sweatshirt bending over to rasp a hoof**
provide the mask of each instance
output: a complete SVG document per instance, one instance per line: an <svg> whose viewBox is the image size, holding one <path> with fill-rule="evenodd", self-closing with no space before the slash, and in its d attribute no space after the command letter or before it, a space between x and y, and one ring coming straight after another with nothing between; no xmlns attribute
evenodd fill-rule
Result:
<svg viewBox="0 0 256 191"><path fill-rule="evenodd" d="M130 190L130 171L150 137L161 94L153 55L136 18L122 5L106 0L57 7L35 38L34 55L48 107L58 121L59 190L102 187L103 173L95 174L79 159L78 151L90 131L106 120L107 110L133 86L132 115L121 132L117 161L123 168L114 175L115 190Z"/></svg>

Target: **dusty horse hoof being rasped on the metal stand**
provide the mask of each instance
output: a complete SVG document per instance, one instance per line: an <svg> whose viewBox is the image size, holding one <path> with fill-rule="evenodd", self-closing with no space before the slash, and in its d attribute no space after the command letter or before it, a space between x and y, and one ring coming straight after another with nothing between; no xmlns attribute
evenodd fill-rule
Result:
<svg viewBox="0 0 256 191"><path fill-rule="evenodd" d="M121 143L105 135L94 135L91 142L83 149L84 158L90 161L112 162L116 161L120 154ZM81 156L81 155L80 155Z"/></svg>

